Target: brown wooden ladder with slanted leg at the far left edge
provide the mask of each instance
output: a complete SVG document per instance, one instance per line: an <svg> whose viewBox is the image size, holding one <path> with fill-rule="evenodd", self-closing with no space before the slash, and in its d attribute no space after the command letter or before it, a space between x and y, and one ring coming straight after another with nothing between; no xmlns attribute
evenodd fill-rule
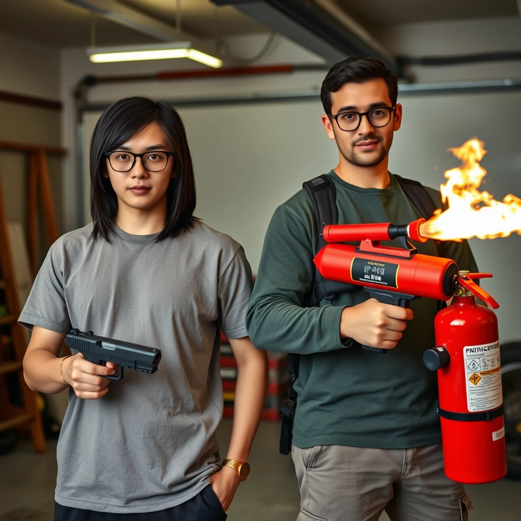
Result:
<svg viewBox="0 0 521 521"><path fill-rule="evenodd" d="M20 316L20 304L18 301L18 288L15 280L15 270L9 235L7 231L7 219L4 206L4 194L0 180L0 285L5 295L5 303L8 315L0 318L1 329L10 329L10 334L5 335L13 345L14 359L3 361L0 358L0 431L14 427L29 427L33 447L36 452L45 452L45 436L43 433L42 417L36 402L36 393L31 391L23 379L22 360L26 352L26 339L22 326L17 322ZM3 347L3 351L5 346ZM2 353L0 353L1 355ZM9 402L5 376L16 373L22 391L23 406L17 407ZM2 382L1 380L4 380Z"/></svg>

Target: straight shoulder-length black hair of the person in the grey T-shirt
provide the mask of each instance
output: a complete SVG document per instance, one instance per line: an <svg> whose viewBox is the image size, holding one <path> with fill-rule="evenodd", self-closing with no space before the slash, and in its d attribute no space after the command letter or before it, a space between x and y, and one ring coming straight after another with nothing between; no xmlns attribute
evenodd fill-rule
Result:
<svg viewBox="0 0 521 521"><path fill-rule="evenodd" d="M167 217L157 241L176 237L192 227L196 219L192 215L195 209L195 177L183 122L169 103L132 96L110 105L97 121L92 134L90 205L94 240L102 237L110 242L109 235L118 211L116 193L110 179L103 176L106 170L105 153L115 150L153 122L159 125L168 139L173 152L170 160L173 160L176 171L176 177L170 179L168 185Z"/></svg>

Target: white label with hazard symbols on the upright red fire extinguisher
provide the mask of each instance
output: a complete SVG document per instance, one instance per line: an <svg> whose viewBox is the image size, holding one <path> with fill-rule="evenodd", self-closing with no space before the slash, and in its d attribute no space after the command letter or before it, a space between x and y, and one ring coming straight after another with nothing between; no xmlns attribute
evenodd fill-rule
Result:
<svg viewBox="0 0 521 521"><path fill-rule="evenodd" d="M499 407L503 403L499 342L466 345L463 356L468 411L477 413Z"/></svg>

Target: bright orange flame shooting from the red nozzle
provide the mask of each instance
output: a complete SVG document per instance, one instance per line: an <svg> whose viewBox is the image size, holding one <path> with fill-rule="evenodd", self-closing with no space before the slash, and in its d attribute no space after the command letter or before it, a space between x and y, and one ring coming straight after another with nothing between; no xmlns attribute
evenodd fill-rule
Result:
<svg viewBox="0 0 521 521"><path fill-rule="evenodd" d="M430 239L461 241L478 237L495 239L521 234L521 199L508 194L503 202L495 201L488 192L480 192L479 185L487 170L479 164L487 151L482 141L471 139L460 148L449 150L461 159L461 168L445 172L448 181L440 186L441 201L448 208L420 225L420 234Z"/></svg>

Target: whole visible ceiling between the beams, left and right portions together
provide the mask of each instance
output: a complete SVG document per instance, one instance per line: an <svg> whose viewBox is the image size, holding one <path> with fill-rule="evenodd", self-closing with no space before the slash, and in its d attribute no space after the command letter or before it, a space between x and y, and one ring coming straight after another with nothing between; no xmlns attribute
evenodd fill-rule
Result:
<svg viewBox="0 0 521 521"><path fill-rule="evenodd" d="M117 0L172 27L176 0ZM309 0L308 0L309 1ZM402 23L519 16L517 0L331 0L370 31ZM181 27L204 39L267 32L258 21L210 0L181 0ZM0 0L0 32L58 48L91 44L90 11L66 0ZM156 39L96 17L96 45L153 43Z"/></svg>

